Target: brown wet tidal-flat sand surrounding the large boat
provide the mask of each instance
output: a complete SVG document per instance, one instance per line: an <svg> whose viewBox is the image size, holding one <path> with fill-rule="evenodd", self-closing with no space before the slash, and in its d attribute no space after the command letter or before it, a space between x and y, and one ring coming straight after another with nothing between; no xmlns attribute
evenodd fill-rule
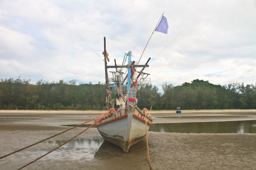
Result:
<svg viewBox="0 0 256 170"><path fill-rule="evenodd" d="M69 128L60 125L80 124L104 112L0 110L0 156ZM152 111L150 114L153 123L256 120L256 110L182 110L181 114ZM0 167L18 169L83 129L75 128L3 158ZM153 169L256 169L256 134L148 132L148 138ZM96 128L90 128L76 139L103 141ZM105 141L87 150L60 147L24 169L149 169L146 156L146 138L132 146L129 153Z"/></svg>

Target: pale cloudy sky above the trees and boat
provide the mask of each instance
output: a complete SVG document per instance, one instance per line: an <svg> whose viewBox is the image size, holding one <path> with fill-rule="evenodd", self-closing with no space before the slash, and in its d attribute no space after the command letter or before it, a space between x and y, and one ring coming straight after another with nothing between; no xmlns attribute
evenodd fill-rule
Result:
<svg viewBox="0 0 256 170"><path fill-rule="evenodd" d="M168 34L154 31L163 12ZM108 65L150 57L159 90L256 83L255 0L0 0L0 78L104 82L104 37Z"/></svg>

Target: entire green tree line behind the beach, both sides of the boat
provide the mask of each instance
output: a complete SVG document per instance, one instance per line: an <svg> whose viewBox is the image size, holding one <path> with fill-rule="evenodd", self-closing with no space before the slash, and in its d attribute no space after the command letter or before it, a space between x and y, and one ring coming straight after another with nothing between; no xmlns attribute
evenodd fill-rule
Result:
<svg viewBox="0 0 256 170"><path fill-rule="evenodd" d="M0 79L0 109L106 109L104 83L79 84L77 80L48 82L39 80ZM136 98L143 109L255 109L256 84L213 85L193 80L173 86L163 83L139 87ZM115 94L113 94L115 98Z"/></svg>

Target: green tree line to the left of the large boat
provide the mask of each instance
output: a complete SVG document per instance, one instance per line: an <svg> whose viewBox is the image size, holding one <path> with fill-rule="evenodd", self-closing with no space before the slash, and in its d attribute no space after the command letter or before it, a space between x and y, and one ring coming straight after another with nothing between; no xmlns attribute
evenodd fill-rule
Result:
<svg viewBox="0 0 256 170"><path fill-rule="evenodd" d="M76 85L77 80L48 82L9 78L0 79L1 109L103 109L102 83Z"/></svg>

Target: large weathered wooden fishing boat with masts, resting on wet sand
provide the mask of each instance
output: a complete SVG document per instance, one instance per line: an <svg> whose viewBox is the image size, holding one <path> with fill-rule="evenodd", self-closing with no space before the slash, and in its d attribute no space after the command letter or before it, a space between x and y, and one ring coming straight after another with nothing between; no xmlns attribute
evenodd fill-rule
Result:
<svg viewBox="0 0 256 170"><path fill-rule="evenodd" d="M149 67L148 61L145 65L138 65L135 61L132 61L132 52L129 51L124 55L124 61L122 65L108 66L109 61L108 53L106 51L106 39L104 37L104 64L105 64L105 88L107 89L106 105L107 108L112 111L104 116L102 120L96 123L95 127L98 129L101 136L119 147L121 147L125 153L129 148L141 141L146 135L146 132L152 126L152 117L146 113L146 109L143 111L137 107L136 93L138 90L138 78L141 76L139 83L149 75L144 73L143 70ZM128 63L126 59L128 57ZM126 59L125 59L126 58ZM138 73L136 69L142 67ZM111 71L112 77L108 77L108 70ZM123 69L127 69L123 72ZM126 77L124 75L126 74ZM113 95L112 93L115 93ZM115 96L112 98L112 96ZM115 109L113 109L115 108ZM95 122L99 120L96 119Z"/></svg>

